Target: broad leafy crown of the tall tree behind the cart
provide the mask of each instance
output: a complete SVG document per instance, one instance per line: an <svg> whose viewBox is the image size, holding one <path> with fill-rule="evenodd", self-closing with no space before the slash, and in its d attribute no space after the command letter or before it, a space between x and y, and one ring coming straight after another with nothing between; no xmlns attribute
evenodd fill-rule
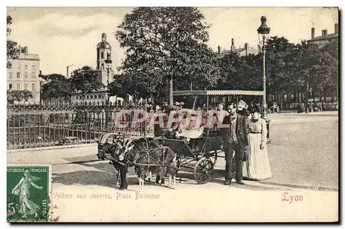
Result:
<svg viewBox="0 0 345 229"><path fill-rule="evenodd" d="M119 70L130 93L159 94L162 80L174 90L216 86L217 59L208 48L208 28L197 8L135 8L126 14L115 36L126 58Z"/></svg>

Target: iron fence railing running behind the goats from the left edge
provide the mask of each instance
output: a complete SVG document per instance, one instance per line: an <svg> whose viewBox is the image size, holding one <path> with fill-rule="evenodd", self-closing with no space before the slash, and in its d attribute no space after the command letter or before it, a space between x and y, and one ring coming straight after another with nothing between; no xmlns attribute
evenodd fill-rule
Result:
<svg viewBox="0 0 345 229"><path fill-rule="evenodd" d="M146 122L135 113L146 105L8 106L8 149L95 143L104 132L145 136ZM144 120L144 119L141 119Z"/></svg>

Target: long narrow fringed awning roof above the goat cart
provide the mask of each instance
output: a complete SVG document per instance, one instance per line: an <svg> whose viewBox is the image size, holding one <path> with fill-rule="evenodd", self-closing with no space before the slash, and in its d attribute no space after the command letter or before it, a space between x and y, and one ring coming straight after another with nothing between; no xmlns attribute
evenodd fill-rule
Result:
<svg viewBox="0 0 345 229"><path fill-rule="evenodd" d="M262 90L177 90L172 92L173 96L181 95L251 95L262 96Z"/></svg>

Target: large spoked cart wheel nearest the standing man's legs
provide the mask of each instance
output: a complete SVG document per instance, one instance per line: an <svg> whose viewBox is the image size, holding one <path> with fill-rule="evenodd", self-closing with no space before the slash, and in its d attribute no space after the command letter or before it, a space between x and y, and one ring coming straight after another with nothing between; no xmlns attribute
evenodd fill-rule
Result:
<svg viewBox="0 0 345 229"><path fill-rule="evenodd" d="M212 179L214 172L215 168L213 168L213 162L210 159L200 159L194 167L194 179L197 183L207 183Z"/></svg>

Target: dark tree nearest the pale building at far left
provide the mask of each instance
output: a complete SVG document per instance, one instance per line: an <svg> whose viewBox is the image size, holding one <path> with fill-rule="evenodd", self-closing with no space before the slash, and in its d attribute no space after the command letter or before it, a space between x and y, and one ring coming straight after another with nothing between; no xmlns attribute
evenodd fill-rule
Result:
<svg viewBox="0 0 345 229"><path fill-rule="evenodd" d="M41 78L47 82L41 86L41 99L70 97L70 80L62 74L48 74L41 76Z"/></svg>

